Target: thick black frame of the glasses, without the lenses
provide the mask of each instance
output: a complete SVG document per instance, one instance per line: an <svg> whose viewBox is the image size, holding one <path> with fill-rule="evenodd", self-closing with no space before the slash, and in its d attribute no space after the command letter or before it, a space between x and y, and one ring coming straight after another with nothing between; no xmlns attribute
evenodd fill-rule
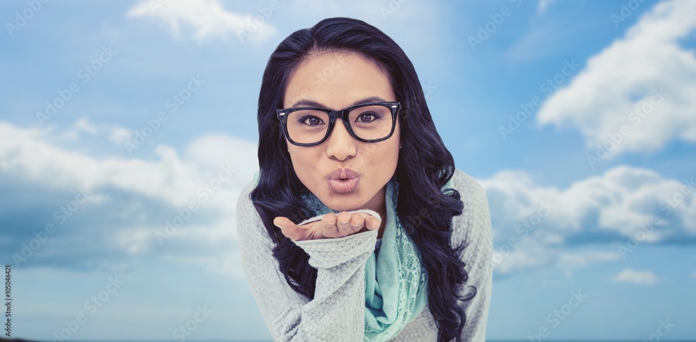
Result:
<svg viewBox="0 0 696 342"><path fill-rule="evenodd" d="M356 135L356 133L353 131L353 128L351 127L351 124L348 122L349 117L348 113L350 111L356 109L356 108L361 108L361 107L366 107L366 106L385 106L389 108L391 111L392 115L392 127L391 131L389 134L384 137L384 138L379 138L379 139L363 139L360 138ZM318 142L312 142L312 143L303 143L303 142L296 142L290 138L290 133L287 132L287 115L296 112L296 111L306 111L306 110L313 110L313 111L322 111L326 114L329 115L329 129L326 130L326 135L322 140L319 140ZM401 103L400 102L370 102L367 104L356 104L355 106L350 106L347 108L340 109L338 111L333 111L332 109L329 108L323 108L323 107L291 107L291 108L283 108L283 109L278 109L276 110L276 116L278 117L278 120L280 120L280 126L283 127L283 134L285 134L285 138L287 138L288 141L292 143L292 145L297 145L297 146L316 146L321 144L322 142L326 141L329 136L331 136L331 132L333 131L333 124L335 123L336 119L341 119L345 127L348 129L348 133L355 138L358 141L362 142L379 142L383 140L387 140L388 138L391 138L391 136L394 134L394 129L396 127L396 120L397 120L397 115L399 112L402 110Z"/></svg>

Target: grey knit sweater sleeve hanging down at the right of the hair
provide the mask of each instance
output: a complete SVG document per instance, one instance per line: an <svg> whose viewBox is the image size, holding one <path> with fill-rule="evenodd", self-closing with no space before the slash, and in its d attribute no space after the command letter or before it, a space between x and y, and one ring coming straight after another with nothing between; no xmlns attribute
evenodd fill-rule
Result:
<svg viewBox="0 0 696 342"><path fill-rule="evenodd" d="M462 241L468 246L461 253L468 274L466 284L476 288L476 295L459 306L466 312L466 324L461 332L461 341L484 342L491 302L493 282L493 229L488 198L482 186L468 174L457 170L454 187L464 202L464 211L454 219L453 247ZM453 177L453 178L454 178ZM460 296L470 293L462 286Z"/></svg>

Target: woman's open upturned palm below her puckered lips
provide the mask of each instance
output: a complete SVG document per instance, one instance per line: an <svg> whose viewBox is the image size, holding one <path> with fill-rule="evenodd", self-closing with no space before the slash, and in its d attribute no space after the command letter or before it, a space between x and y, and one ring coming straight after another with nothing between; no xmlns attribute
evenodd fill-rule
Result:
<svg viewBox="0 0 696 342"><path fill-rule="evenodd" d="M342 238L363 231L379 229L381 222L378 218L367 213L348 213L342 211L327 213L322 220L295 225L290 219L278 216L273 224L280 227L283 235L292 241L318 240L321 238Z"/></svg>

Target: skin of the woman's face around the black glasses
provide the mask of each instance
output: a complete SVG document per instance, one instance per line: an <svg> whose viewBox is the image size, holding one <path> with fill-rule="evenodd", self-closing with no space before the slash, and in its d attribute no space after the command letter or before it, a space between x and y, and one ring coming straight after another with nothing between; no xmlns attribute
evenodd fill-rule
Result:
<svg viewBox="0 0 696 342"><path fill-rule="evenodd" d="M292 72L283 108L321 106L340 110L374 101L396 101L388 76L377 64L358 54L325 52L308 57ZM303 147L286 142L297 177L326 206L335 211L385 210L386 184L399 160L398 120L393 135L380 142L356 140L340 119L335 121L329 138L319 145ZM337 168L357 172L357 184L329 179Z"/></svg>

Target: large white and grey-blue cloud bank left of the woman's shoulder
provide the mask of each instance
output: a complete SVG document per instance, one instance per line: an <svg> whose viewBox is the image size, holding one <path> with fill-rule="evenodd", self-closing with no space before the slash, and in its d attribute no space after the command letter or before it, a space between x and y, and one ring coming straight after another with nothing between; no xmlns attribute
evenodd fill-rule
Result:
<svg viewBox="0 0 696 342"><path fill-rule="evenodd" d="M85 122L77 122L75 127L99 131ZM26 210L17 201L24 198L33 215L40 217L39 221L49 220L3 231L4 245L11 246L7 250L3 247L3 252L19 252L26 242L26 229L31 238L31 229L42 229L47 222L58 226L53 212L64 206L66 199L72 199L77 188L87 187L94 195L79 207L79 217L83 219L70 219L66 225L61 222L61 233L52 237L52 243L41 247L37 254L89 255L90 258L81 259L90 259L90 265L98 265L100 258L108 259L114 253L123 256L116 258L119 262L127 256L157 254L200 261L205 268L242 274L235 269L241 264L220 260L235 258L235 251L230 249L236 239L235 207L239 191L258 169L255 142L221 135L202 136L189 143L182 155L160 145L155 147L159 158L145 161L127 156L100 158L61 147L63 135L50 129L22 129L0 122L3 137L0 181L3 191L7 191L6 198L13 198L0 201L3 204L0 216L5 222L27 220L24 216L13 217ZM102 134L77 138L81 145L107 139ZM27 186L41 190L27 191ZM58 205L54 201L47 208L41 206L49 197L57 198ZM190 219L184 218L185 225L160 243L157 232L166 233L165 220L187 216L179 211L191 202L196 202L198 210L191 213ZM100 229L94 229L95 226ZM64 248L70 253L65 253Z"/></svg>

